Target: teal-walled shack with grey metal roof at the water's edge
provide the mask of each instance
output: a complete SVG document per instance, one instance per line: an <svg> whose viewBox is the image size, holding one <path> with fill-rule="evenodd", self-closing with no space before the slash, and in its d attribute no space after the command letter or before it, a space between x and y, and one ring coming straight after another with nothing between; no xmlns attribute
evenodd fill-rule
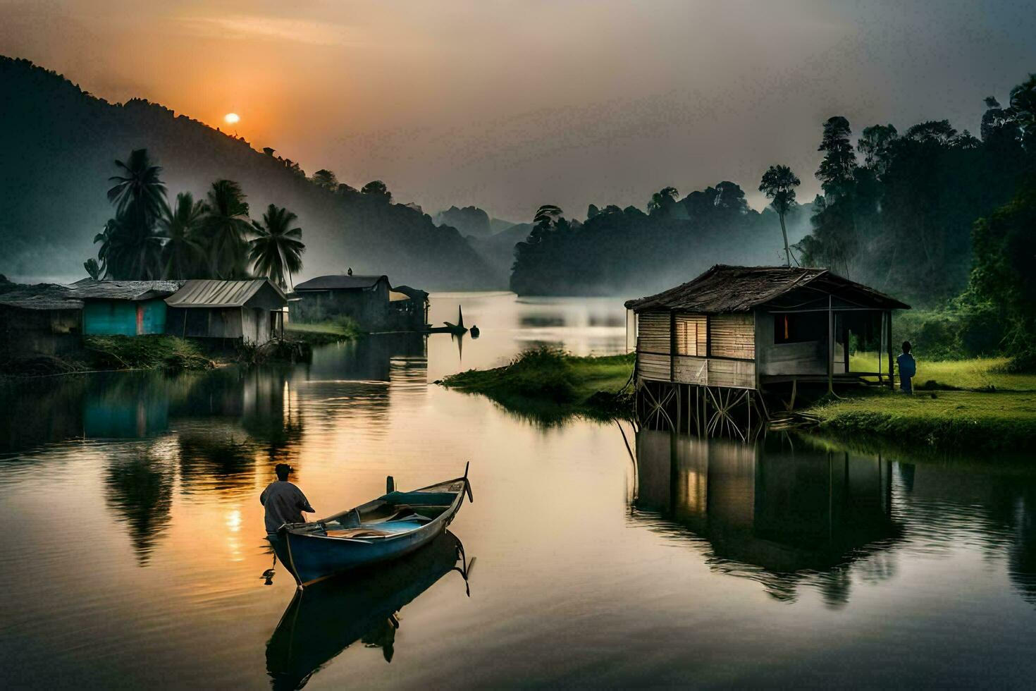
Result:
<svg viewBox="0 0 1036 691"><path fill-rule="evenodd" d="M83 300L86 336L143 336L166 333L165 298L180 289L180 281L94 281L73 284Z"/></svg>

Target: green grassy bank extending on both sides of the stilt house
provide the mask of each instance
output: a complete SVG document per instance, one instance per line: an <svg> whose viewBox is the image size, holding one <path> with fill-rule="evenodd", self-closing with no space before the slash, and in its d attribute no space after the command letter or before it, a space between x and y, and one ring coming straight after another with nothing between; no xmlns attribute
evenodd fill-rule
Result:
<svg viewBox="0 0 1036 691"><path fill-rule="evenodd" d="M468 370L435 383L486 396L540 423L559 424L572 416L632 419L633 363L632 355L581 357L540 348L503 367ZM932 370L939 371L939 365ZM1029 385L1031 375L1010 376L1017 378L1001 376L1002 386L1013 381L1018 388L962 390L933 380L942 387L915 390L910 397L882 390L825 398L797 411L816 419L799 431L850 443L876 439L903 451L1024 452L1036 444L1036 392Z"/></svg>

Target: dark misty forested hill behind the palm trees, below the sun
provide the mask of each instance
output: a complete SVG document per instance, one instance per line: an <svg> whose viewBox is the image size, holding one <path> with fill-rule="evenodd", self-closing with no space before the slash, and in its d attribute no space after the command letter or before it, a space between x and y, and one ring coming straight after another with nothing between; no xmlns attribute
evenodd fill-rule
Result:
<svg viewBox="0 0 1036 691"><path fill-rule="evenodd" d="M420 209L321 186L297 165L171 110L134 99L109 104L62 76L0 56L0 273L12 279L83 277L93 237L114 215L106 199L114 161L146 148L172 199L203 199L213 180L236 180L253 218L267 204L298 214L307 250L298 278L387 273L423 288L492 288L494 273L451 227Z"/></svg>

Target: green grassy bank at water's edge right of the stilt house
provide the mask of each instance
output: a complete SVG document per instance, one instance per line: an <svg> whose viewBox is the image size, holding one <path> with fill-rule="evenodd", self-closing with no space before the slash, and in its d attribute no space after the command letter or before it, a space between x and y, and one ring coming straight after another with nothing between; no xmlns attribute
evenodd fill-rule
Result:
<svg viewBox="0 0 1036 691"><path fill-rule="evenodd" d="M943 452L1018 452L1036 443L1036 393L882 392L821 403L818 431Z"/></svg>

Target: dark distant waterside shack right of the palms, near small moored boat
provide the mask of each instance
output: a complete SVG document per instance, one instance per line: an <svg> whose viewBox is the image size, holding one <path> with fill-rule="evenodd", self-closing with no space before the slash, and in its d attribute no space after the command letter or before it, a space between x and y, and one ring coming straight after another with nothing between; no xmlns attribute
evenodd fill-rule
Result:
<svg viewBox="0 0 1036 691"><path fill-rule="evenodd" d="M393 288L387 276L330 275L295 286L291 319L348 317L366 332L423 330L427 308L428 293L409 286Z"/></svg>

